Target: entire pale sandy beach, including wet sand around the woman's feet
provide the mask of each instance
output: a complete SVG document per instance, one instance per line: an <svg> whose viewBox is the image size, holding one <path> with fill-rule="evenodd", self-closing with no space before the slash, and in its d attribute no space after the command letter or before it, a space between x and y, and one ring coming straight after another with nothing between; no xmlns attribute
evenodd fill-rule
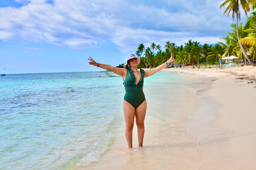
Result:
<svg viewBox="0 0 256 170"><path fill-rule="evenodd" d="M111 129L115 134L114 142L99 161L89 165L78 164L68 169L256 169L256 79L252 76L256 75L256 67L185 67L166 68L162 71L179 72L180 76L189 80L191 77L198 81L205 80L202 86L200 83L192 85L194 93L188 93L188 96L177 101L184 105L180 110L184 118L163 120L155 117L154 114L171 116L174 113L163 107L168 106L168 100L161 100L157 104L159 99L167 97L164 92L168 91L168 85L151 89L152 96L147 94L148 107L151 108L145 119L143 148L138 149L136 146L137 132L134 126L135 148L126 151L124 122L119 122ZM251 81L253 83L248 83ZM175 84L174 87L181 88L180 85ZM159 91L162 91L161 96Z"/></svg>

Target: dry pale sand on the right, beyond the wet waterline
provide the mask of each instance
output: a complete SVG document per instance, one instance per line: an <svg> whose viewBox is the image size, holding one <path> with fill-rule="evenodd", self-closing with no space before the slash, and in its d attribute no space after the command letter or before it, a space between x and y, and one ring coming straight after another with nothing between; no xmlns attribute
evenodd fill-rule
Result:
<svg viewBox="0 0 256 170"><path fill-rule="evenodd" d="M201 169L256 169L256 67L192 69L187 66L163 71L217 79L208 89L197 93L205 106L189 117L188 128L197 135L199 145L209 151ZM207 110L207 104L211 103L216 104L216 113Z"/></svg>

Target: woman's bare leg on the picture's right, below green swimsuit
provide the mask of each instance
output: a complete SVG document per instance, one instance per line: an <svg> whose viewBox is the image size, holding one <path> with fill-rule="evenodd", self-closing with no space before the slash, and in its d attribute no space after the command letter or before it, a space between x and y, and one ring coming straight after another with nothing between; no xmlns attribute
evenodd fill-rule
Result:
<svg viewBox="0 0 256 170"><path fill-rule="evenodd" d="M142 147L143 143L143 138L144 138L144 120L146 116L146 111L147 111L147 102L146 100L136 108L135 110L135 117L136 117L136 125L138 129L138 140L139 140L139 148Z"/></svg>

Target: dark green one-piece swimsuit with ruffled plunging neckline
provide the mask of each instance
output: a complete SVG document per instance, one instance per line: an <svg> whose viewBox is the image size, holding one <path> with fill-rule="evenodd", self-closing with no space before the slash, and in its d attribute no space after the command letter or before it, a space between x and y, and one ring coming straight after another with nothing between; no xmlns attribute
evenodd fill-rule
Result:
<svg viewBox="0 0 256 170"><path fill-rule="evenodd" d="M141 78L138 84L135 84L136 77L130 68L126 68L127 73L124 80L125 95L124 100L130 103L135 109L139 107L146 99L143 93L143 82L145 71L140 69Z"/></svg>

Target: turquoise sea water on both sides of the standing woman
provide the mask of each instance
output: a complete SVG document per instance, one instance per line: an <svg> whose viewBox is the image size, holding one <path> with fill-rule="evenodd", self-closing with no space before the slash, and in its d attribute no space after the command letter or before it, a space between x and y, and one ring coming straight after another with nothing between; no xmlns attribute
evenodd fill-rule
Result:
<svg viewBox="0 0 256 170"><path fill-rule="evenodd" d="M162 87L166 96L154 103L175 106L168 115L175 120L180 116L175 108L185 105L182 96L197 83L178 73L158 72L144 79L144 93L152 103L157 95L152 89ZM114 140L110 129L124 122L124 93L122 77L103 72L0 77L0 169L64 169L98 161ZM148 108L154 116L154 107Z"/></svg>

